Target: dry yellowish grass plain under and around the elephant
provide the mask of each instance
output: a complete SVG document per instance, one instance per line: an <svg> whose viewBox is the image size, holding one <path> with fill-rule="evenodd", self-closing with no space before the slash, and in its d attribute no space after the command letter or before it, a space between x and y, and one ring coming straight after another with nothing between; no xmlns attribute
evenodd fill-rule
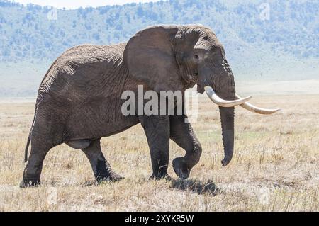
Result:
<svg viewBox="0 0 319 226"><path fill-rule="evenodd" d="M201 161L186 181L148 180L150 154L140 125L101 140L103 153L123 181L97 185L81 150L52 149L42 185L18 188L34 103L0 103L0 210L72 211L318 211L318 95L254 96L259 106L280 106L274 115L236 108L235 154L222 167L218 107L201 97L197 123Z"/></svg>

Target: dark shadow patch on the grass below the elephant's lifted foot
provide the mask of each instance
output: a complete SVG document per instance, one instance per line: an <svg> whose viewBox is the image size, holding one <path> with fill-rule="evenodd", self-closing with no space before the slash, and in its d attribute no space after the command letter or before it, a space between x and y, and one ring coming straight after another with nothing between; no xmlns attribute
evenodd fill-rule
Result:
<svg viewBox="0 0 319 226"><path fill-rule="evenodd" d="M211 196L216 196L218 193L221 193L221 189L216 186L216 184L208 180L206 182L199 181L197 179L187 179L187 180L172 180L171 188L175 188L179 191L191 191L202 194L210 194Z"/></svg>

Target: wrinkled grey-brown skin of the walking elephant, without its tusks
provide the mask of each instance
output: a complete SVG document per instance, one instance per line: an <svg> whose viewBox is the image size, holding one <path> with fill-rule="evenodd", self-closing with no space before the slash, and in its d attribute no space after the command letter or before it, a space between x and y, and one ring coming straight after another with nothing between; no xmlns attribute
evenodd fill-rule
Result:
<svg viewBox="0 0 319 226"><path fill-rule="evenodd" d="M40 84L35 118L30 130L30 157L21 187L40 183L47 152L66 143L82 149L97 181L117 181L101 152L101 137L141 123L150 147L152 178L167 177L169 139L185 149L173 160L173 168L186 179L201 156L201 145L185 115L124 116L123 91L184 91L195 84L198 92L213 87L227 100L235 99L233 74L216 35L201 25L152 26L128 43L80 45L53 62ZM223 145L227 165L233 156L234 108L221 108ZM26 147L28 149L28 145Z"/></svg>

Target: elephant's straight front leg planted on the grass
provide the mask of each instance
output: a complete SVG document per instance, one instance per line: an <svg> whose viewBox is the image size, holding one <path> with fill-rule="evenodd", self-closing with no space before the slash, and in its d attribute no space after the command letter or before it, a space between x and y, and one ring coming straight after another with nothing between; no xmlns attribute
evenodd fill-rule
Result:
<svg viewBox="0 0 319 226"><path fill-rule="evenodd" d="M140 116L140 123L145 130L147 143L150 147L152 162L151 179L162 179L169 176L169 117L168 116Z"/></svg>

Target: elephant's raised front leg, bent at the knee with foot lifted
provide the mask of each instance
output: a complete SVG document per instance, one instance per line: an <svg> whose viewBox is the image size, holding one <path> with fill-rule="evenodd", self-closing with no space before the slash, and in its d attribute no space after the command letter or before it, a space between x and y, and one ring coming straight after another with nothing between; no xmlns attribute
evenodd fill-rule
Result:
<svg viewBox="0 0 319 226"><path fill-rule="evenodd" d="M184 123L185 117L181 115L170 118L170 138L186 151L184 157L173 160L173 169L181 179L189 177L191 169L198 163L202 151L193 128L189 123Z"/></svg>

